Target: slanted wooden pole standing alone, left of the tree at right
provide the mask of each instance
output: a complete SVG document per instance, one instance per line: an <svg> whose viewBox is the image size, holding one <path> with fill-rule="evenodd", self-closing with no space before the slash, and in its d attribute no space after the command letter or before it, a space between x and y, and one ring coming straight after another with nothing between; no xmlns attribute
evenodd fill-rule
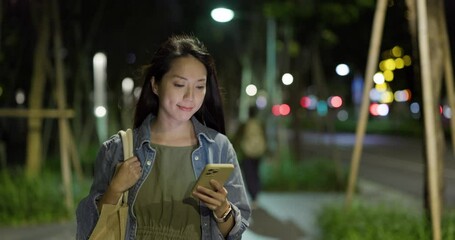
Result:
<svg viewBox="0 0 455 240"><path fill-rule="evenodd" d="M387 12L387 0L378 0L373 20L373 31L370 39L370 49L365 73L365 84L363 89L363 99L360 107L359 123L356 129L356 141L351 159L351 169L349 172L349 182L346 194L346 207L350 207L352 196L357 182L360 156L363 147L363 138L365 136L366 126L368 123L368 109L370 105L370 90L373 87L373 75L378 66L379 50L381 47L382 32L384 29L384 19Z"/></svg>

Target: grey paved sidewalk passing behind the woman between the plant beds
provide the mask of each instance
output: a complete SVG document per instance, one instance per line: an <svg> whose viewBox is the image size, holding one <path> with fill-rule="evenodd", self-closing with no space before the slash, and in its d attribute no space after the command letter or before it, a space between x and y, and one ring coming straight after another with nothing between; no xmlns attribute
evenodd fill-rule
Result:
<svg viewBox="0 0 455 240"><path fill-rule="evenodd" d="M412 209L420 203L411 196L371 182L359 183L359 198L368 203L399 202ZM253 210L245 240L317 240L321 233L317 225L319 211L326 204L343 204L345 193L263 192L258 208ZM4 240L71 240L75 239L74 222L39 226L0 228Z"/></svg>

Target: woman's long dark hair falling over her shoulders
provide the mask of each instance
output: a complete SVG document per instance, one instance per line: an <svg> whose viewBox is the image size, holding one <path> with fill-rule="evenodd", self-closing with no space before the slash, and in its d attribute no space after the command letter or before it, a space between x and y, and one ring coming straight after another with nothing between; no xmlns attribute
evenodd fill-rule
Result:
<svg viewBox="0 0 455 240"><path fill-rule="evenodd" d="M145 66L144 84L134 114L134 127L139 127L150 113L155 116L158 114L159 99L152 91L152 77L159 84L163 75L169 71L173 60L190 55L204 64L207 70L207 90L204 102L194 115L207 127L226 134L215 62L204 44L196 37L189 35L176 35L168 38L155 52L150 64Z"/></svg>

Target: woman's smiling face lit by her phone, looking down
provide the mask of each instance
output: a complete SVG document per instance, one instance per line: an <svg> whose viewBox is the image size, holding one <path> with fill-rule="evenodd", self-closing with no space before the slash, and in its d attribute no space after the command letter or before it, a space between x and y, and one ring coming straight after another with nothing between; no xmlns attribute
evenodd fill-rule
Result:
<svg viewBox="0 0 455 240"><path fill-rule="evenodd" d="M179 57L158 83L152 79L152 90L158 95L158 118L167 123L188 121L204 102L207 70L193 56Z"/></svg>

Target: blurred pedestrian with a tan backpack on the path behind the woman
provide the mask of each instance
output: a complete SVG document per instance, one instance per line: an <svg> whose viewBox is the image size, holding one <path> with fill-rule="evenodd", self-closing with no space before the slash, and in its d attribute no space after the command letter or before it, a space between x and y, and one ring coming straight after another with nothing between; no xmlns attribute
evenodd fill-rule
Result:
<svg viewBox="0 0 455 240"><path fill-rule="evenodd" d="M257 196L261 190L259 167L267 151L263 122L258 118L258 108L249 108L249 118L241 127L239 146L242 152L241 165L252 207L257 207Z"/></svg>

